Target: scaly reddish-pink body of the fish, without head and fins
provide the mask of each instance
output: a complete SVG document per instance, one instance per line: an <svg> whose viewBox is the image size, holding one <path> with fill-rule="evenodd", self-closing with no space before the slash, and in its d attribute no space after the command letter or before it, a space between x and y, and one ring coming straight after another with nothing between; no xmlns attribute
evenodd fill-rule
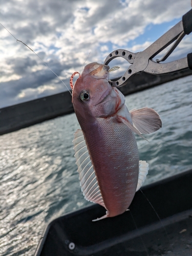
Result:
<svg viewBox="0 0 192 256"><path fill-rule="evenodd" d="M124 123L119 124L115 117L96 121L97 125L89 125L84 137L105 207L112 217L122 214L133 200L139 154L135 136Z"/></svg>

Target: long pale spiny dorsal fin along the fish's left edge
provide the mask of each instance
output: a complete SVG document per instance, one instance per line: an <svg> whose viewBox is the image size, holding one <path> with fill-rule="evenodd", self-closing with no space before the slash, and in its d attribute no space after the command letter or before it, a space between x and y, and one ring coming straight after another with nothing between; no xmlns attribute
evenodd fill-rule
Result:
<svg viewBox="0 0 192 256"><path fill-rule="evenodd" d="M83 196L86 200L105 207L86 141L80 129L74 133L73 143Z"/></svg>

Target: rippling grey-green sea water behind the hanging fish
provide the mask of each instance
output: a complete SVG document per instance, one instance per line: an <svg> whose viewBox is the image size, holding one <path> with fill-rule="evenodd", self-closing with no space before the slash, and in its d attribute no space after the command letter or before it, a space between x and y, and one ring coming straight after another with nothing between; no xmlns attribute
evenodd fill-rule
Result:
<svg viewBox="0 0 192 256"><path fill-rule="evenodd" d="M136 136L150 164L145 184L192 168L192 76L126 96L129 110L155 109L162 129ZM34 255L46 224L90 205L79 186L75 114L0 136L0 255Z"/></svg>

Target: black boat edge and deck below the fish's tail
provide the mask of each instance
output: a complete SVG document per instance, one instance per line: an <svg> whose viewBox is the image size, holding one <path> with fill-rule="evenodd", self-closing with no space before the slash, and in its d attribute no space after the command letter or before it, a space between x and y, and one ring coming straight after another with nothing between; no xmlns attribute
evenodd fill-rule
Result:
<svg viewBox="0 0 192 256"><path fill-rule="evenodd" d="M55 219L35 256L191 256L192 170L141 190L120 216L92 222L105 214L94 204Z"/></svg>

